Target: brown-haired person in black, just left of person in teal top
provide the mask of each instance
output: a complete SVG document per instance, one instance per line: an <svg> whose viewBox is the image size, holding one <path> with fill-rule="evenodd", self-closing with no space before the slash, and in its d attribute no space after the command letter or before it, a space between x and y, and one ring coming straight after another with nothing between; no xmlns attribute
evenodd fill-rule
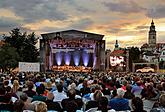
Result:
<svg viewBox="0 0 165 112"><path fill-rule="evenodd" d="M28 82L27 87L28 87L28 90L24 91L24 93L26 93L28 97L33 98L33 96L36 95L36 92L33 91L33 87L34 87L33 82L32 81Z"/></svg>

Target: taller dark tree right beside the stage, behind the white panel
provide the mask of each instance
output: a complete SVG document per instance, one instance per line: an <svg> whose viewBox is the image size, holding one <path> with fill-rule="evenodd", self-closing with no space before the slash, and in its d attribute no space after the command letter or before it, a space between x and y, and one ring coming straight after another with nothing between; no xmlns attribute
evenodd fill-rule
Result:
<svg viewBox="0 0 165 112"><path fill-rule="evenodd" d="M16 48L17 53L24 62L36 62L38 61L39 52L36 48L37 38L35 33L27 34L21 33L20 29L16 28L11 30L10 36L4 36L5 43L10 44Z"/></svg>

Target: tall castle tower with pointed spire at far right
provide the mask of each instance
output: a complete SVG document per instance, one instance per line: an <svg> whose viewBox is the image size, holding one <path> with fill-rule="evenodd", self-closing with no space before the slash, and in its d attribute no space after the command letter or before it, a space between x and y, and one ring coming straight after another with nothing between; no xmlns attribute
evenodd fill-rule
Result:
<svg viewBox="0 0 165 112"><path fill-rule="evenodd" d="M151 26L150 26L148 44L152 48L156 46L156 31L155 31L155 25L154 25L153 20L152 20Z"/></svg>

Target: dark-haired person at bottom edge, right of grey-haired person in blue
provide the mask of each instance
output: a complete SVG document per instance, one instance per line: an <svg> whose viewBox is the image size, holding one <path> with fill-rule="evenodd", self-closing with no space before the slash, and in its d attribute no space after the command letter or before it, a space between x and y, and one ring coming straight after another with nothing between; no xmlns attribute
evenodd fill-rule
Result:
<svg viewBox="0 0 165 112"><path fill-rule="evenodd" d="M143 109L143 101L139 97L134 97L132 99L132 109L131 112L147 112Z"/></svg>

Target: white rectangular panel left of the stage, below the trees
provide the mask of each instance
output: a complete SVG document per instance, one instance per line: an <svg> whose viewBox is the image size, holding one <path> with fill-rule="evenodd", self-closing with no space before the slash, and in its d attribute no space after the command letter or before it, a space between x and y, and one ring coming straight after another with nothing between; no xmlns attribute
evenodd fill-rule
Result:
<svg viewBox="0 0 165 112"><path fill-rule="evenodd" d="M40 72L40 63L19 62L19 72Z"/></svg>

